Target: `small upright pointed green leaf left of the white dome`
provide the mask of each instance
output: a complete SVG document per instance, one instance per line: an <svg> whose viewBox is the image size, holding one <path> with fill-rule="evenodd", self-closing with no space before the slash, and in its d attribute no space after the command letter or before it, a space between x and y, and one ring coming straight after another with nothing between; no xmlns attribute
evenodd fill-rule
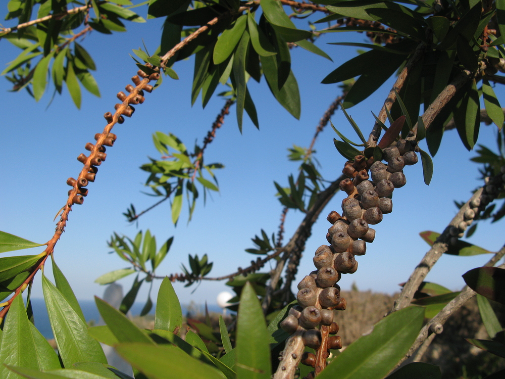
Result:
<svg viewBox="0 0 505 379"><path fill-rule="evenodd" d="M155 329L168 330L178 334L182 326L182 310L177 294L168 277L161 283L156 300Z"/></svg>

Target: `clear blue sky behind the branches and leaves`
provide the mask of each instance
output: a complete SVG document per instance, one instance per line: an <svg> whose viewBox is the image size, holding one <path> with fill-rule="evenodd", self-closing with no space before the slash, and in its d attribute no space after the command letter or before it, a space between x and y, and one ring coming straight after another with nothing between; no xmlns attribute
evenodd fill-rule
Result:
<svg viewBox="0 0 505 379"><path fill-rule="evenodd" d="M142 13L143 12L143 13ZM146 9L139 10L145 16ZM77 110L66 88L63 96L56 96L47 107L54 87L36 103L26 91L8 92L10 82L0 79L0 230L13 233L28 240L44 243L54 232L53 218L65 204L68 177L76 177L81 164L76 160L85 153L84 145L101 132L106 122L103 114L114 110L118 101L116 93L124 90L137 70L128 56L138 49L142 40L153 52L160 40L163 20L149 20L147 24L128 23L128 32L103 35L98 32L86 36L80 43L93 57L97 71L93 72L102 94L101 98L83 91L82 107ZM6 22L4 26L12 26ZM320 84L321 80L338 65L354 57L356 48L327 45L326 42L343 41L344 33L323 36L317 42L333 59L330 62L302 49L294 49L292 70L298 81L301 95L301 118L294 119L273 98L264 78L260 84L250 81L249 90L259 113L260 130L257 130L244 115L243 132L237 128L235 109L225 119L217 137L206 151L206 162L220 162L226 167L217 171L219 194L213 194L204 207L198 201L193 220L187 224L187 208L183 206L181 219L174 227L170 207L163 204L141 217L136 225L126 222L124 212L130 203L141 210L154 202L141 193L147 176L139 166L148 162L148 156L158 158L151 134L156 131L172 132L186 146L196 140L201 143L211 128L223 101L216 96L205 110L198 99L191 108L190 91L193 77L193 60L178 62L174 69L180 80L165 78L163 85L153 93L146 94L144 104L136 107L131 119L114 127L118 135L116 144L107 150L107 161L99 168L94 183L88 186L89 195L82 206L74 206L65 233L57 244L55 258L71 283L78 299L91 299L102 295L104 287L94 283L98 276L119 268L124 261L110 249L106 241L115 231L131 238L139 229L149 228L158 242L174 235L172 248L158 268L157 274L180 272L180 264L187 266L187 254L209 255L214 268L209 275L231 273L238 266L246 267L256 256L244 252L254 247L250 241L263 228L268 234L277 232L281 204L276 200L273 181L287 184L287 176L295 173L297 163L289 162L286 149L293 144L308 147L315 128L328 105L340 94L336 84ZM356 40L368 42L364 34ZM1 61L12 61L21 51L6 40L0 40ZM367 135L392 81L388 81L367 101L349 109ZM218 87L216 93L219 93ZM505 104L503 91L495 89L498 98ZM346 135L353 132L341 111L332 117L333 123ZM377 237L368 246L365 256L359 257L359 270L344 275L339 284L350 289L352 282L360 290L393 293L398 283L408 279L415 265L428 250L419 237L423 230L442 231L457 208L453 200L466 201L477 181L478 165L469 162L475 156L467 152L455 130L448 131L442 140L439 153L434 158L435 171L432 183L426 186L422 179L421 164L407 167L408 183L397 189L393 197L393 213L384 216L376 225ZM335 133L328 127L320 135L317 144L317 159L323 175L332 180L340 175L342 158L333 146ZM495 150L496 127L481 127L479 143ZM425 144L421 144L425 148ZM325 235L330 226L325 220L331 210L340 210L343 194L337 194L323 212L324 216L313 228L312 237L302 258L297 279L313 270L314 251L326 243ZM203 199L199 199L203 200ZM303 215L290 210L285 225L285 239L296 229ZM501 223L482 223L470 242L488 250L496 251L504 243ZM13 252L37 254L40 249ZM451 290L464 285L461 275L467 270L484 264L490 256L455 257L443 256L427 280L438 282ZM50 271L50 267L47 267ZM266 266L264 270L268 270ZM50 276L51 277L51 276ZM128 291L133 275L120 280ZM144 284L145 286L145 284ZM155 283L153 294L157 293ZM194 301L213 304L219 292L227 290L224 282L204 281L195 291L195 285L175 289L181 302ZM141 289L138 301L145 301L147 286ZM37 274L34 297L42 297L40 274ZM155 300L155 295L153 300Z"/></svg>

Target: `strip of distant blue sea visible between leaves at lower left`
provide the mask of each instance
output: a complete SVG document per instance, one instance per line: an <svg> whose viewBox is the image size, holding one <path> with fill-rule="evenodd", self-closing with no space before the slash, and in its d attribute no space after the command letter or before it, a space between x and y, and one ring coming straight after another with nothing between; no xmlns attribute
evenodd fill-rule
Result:
<svg viewBox="0 0 505 379"><path fill-rule="evenodd" d="M95 302L93 300L79 300L79 305L81 306L82 313L87 322L93 320L96 324L100 319L100 313L96 309ZM130 313L133 316L139 315L142 310L144 303L134 303L130 308ZM47 309L45 307L44 299L32 299L33 317L35 320L35 326L40 331L42 336L46 339L52 339L53 330L51 329L51 323L49 323L49 316L47 315ZM181 306L182 314L185 316L187 314L188 308L191 313L205 313L205 305L203 306ZM222 310L218 305L208 305L209 312L221 313ZM153 304L153 308L149 314L155 313L156 304Z"/></svg>

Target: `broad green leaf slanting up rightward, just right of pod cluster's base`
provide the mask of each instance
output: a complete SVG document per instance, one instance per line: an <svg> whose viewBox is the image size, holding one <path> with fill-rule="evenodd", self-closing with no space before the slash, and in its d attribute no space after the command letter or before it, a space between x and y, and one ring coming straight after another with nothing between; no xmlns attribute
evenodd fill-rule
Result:
<svg viewBox="0 0 505 379"><path fill-rule="evenodd" d="M372 333L349 345L319 375L320 379L385 376L407 353L423 324L424 309L408 307L375 324Z"/></svg>

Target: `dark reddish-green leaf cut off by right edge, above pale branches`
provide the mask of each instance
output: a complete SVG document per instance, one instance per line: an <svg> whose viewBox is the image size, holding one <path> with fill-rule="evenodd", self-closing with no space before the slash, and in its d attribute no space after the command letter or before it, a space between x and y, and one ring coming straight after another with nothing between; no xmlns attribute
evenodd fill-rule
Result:
<svg viewBox="0 0 505 379"><path fill-rule="evenodd" d="M463 274L463 279L478 294L505 304L505 269L478 267Z"/></svg>

